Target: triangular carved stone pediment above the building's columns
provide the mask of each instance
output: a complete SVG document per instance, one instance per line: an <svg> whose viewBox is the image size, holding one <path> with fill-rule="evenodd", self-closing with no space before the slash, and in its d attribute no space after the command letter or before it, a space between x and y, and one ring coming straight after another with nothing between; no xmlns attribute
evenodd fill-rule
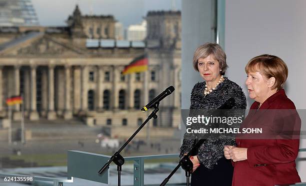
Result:
<svg viewBox="0 0 306 186"><path fill-rule="evenodd" d="M0 47L0 56L71 56L84 53L69 44L70 41L70 39L53 38L47 34L38 34L28 39L17 38L6 43L6 47Z"/></svg>

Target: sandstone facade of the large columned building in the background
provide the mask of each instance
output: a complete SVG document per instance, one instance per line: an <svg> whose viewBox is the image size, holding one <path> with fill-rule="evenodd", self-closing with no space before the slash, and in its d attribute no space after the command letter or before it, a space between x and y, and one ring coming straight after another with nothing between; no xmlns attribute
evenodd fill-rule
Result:
<svg viewBox="0 0 306 186"><path fill-rule="evenodd" d="M76 7L66 27L0 28L0 117L8 116L6 98L22 95L23 105L12 108L14 120L24 110L29 120L80 118L88 125L135 127L149 114L140 108L173 85L175 91L160 103L157 123L151 122L177 127L180 48L88 48L86 21L93 19L104 21L82 16ZM102 38L113 38L112 19ZM148 71L122 76L124 66L143 53L149 57Z"/></svg>

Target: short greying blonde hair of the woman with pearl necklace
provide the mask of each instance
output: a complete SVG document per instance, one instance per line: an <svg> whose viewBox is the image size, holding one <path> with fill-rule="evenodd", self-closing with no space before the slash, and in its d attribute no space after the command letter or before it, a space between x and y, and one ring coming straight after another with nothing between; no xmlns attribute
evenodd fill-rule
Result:
<svg viewBox="0 0 306 186"><path fill-rule="evenodd" d="M209 43L206 42L203 45L200 45L193 53L193 60L192 60L192 65L193 68L198 71L197 68L197 60L199 58L205 58L208 57L209 55L212 55L212 57L219 62L219 67L220 67L220 74L224 75L225 70L228 67L226 64L226 55L223 49L221 48L220 45L216 43Z"/></svg>

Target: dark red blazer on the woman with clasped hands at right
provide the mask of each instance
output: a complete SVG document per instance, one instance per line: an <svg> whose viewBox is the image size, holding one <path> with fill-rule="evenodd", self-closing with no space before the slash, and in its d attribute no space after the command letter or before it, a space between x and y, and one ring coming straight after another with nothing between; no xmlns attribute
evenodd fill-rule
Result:
<svg viewBox="0 0 306 186"><path fill-rule="evenodd" d="M287 98L283 89L265 100L259 111L259 103L254 102L242 126L256 127L260 123L266 126L266 117L260 117L262 109L294 109L296 121L283 122L286 126L295 125L300 130L300 118L293 102ZM271 126L278 125L280 120L268 120ZM293 124L292 124L293 123ZM263 125L262 125L263 126ZM299 134L299 133L298 133ZM247 160L233 163L234 173L232 186L274 186L299 183L300 178L295 169L295 159L298 154L299 139L238 139L237 147L247 148Z"/></svg>

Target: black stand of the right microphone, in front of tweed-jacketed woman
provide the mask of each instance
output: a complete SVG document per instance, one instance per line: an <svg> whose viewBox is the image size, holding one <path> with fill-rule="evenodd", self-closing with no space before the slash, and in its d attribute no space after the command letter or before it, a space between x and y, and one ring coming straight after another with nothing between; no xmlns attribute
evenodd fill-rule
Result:
<svg viewBox="0 0 306 186"><path fill-rule="evenodd" d="M174 173L181 167L185 171L185 176L186 176L186 186L190 186L190 175L191 171L193 169L193 164L191 160L189 159L190 155L193 155L194 152L198 149L199 146L203 144L205 140L200 139L195 146L192 147L192 149L183 156L183 158L179 161L178 165L173 169L173 171L169 174L167 178L165 178L162 183L159 186L165 186L167 182L170 180L170 178L174 175Z"/></svg>

